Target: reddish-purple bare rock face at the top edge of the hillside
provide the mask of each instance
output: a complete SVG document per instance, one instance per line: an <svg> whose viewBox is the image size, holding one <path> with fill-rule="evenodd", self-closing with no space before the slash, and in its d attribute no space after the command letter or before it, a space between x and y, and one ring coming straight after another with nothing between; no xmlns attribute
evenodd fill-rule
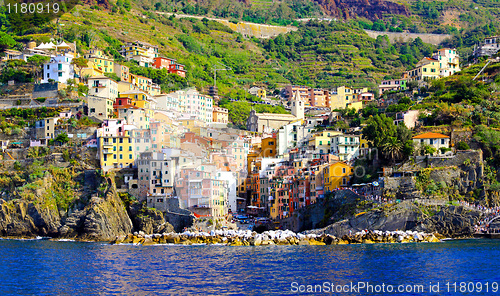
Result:
<svg viewBox="0 0 500 296"><path fill-rule="evenodd" d="M384 0L314 0L323 12L337 18L351 19L356 16L377 20L385 14L409 16L404 5Z"/></svg>

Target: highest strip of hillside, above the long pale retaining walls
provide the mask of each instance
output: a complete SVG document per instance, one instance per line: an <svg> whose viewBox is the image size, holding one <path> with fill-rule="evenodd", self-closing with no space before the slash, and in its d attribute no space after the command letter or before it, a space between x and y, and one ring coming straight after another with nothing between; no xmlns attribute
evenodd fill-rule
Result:
<svg viewBox="0 0 500 296"><path fill-rule="evenodd" d="M500 4L496 0L142 0L135 3L138 8L150 11L277 25L296 24L298 19L311 17L365 18L373 22L383 20L387 30L393 27L428 33L470 29L491 22L498 24L500 16Z"/></svg>

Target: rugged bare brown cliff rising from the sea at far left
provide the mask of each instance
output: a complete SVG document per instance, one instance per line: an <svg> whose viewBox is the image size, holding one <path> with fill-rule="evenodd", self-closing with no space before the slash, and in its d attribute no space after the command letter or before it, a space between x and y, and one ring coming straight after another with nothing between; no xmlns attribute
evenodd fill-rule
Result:
<svg viewBox="0 0 500 296"><path fill-rule="evenodd" d="M95 172L84 175L88 178L86 181L95 181ZM57 177L46 176L40 183L41 187L33 192L23 192L23 198L0 201L2 236L106 241L132 231L132 222L113 182L108 183L104 196L95 195L90 200L84 192L65 188L65 194L75 195L67 211L61 206L63 196Z"/></svg>

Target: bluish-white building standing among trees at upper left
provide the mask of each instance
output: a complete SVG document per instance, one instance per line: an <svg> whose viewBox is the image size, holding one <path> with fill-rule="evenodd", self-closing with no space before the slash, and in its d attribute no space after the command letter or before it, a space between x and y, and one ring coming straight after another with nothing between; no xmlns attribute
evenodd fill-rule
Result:
<svg viewBox="0 0 500 296"><path fill-rule="evenodd" d="M66 53L57 56L51 56L50 61L43 65L42 83L48 83L49 79L67 83L68 79L75 78L75 70L71 61L73 55Z"/></svg>

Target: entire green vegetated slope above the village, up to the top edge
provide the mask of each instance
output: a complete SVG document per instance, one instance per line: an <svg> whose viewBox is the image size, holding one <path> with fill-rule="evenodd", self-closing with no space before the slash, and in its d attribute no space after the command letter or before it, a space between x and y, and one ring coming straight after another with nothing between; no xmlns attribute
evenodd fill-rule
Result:
<svg viewBox="0 0 500 296"><path fill-rule="evenodd" d="M15 28L5 29L11 34L15 33L16 40L20 42L35 40L40 43L47 42L50 38L62 37L66 41L76 42L82 52L96 46L103 48L119 62L130 66L131 72L152 78L161 85L163 91L187 86L196 86L207 91L208 87L213 85L214 67L223 64L230 69L217 73L219 93L222 96L248 100L257 100L246 92L246 89L254 84L266 87L271 93L286 84L324 88L345 84L355 87L367 86L375 91L380 80L399 77L403 71L410 69L419 59L429 56L436 49L419 39L391 44L384 37L372 39L363 31L397 31L396 29L401 28L411 31L415 29L412 21L416 20L418 15L399 15L392 18L387 16L373 22L367 19L296 22L293 21L295 17L320 16L324 15L324 11L314 4L316 2L305 0L284 1L279 5L275 2L246 1L234 3L233 9L239 7L237 11L240 12L236 17L231 14L221 15L218 10L209 9L222 9L227 4L225 0L202 3L175 2L175 5L171 2L158 2L157 5L119 0L99 2L101 6L94 2L92 6L76 6L71 13L66 13L58 19L58 25L48 23L18 32L13 32ZM408 2L405 5L421 14L435 8L432 6L434 2L418 3L420 2ZM299 4L305 5L301 6L303 8L309 8L298 13ZM194 5L194 8L185 9L190 7L189 5ZM440 4L439 9L445 9L448 7L446 5ZM251 9L247 9L248 7ZM289 9L286 9L287 7ZM278 19L293 21L298 30L273 39L245 38L212 20L177 18L175 15L158 13L175 11L174 8L185 13L226 16L233 20L250 20L247 16L252 9L269 12L279 8L280 11L288 13L275 11ZM488 13L494 12L493 9ZM425 21L425 17L429 18L423 15L421 23ZM439 21L436 26L441 26ZM493 23L460 34L455 30L454 37L446 41L445 45L458 47L460 54L466 57L481 36L497 31L498 26ZM134 40L158 45L160 54L175 58L186 65L187 77L184 79L123 61L118 50L123 42Z"/></svg>

